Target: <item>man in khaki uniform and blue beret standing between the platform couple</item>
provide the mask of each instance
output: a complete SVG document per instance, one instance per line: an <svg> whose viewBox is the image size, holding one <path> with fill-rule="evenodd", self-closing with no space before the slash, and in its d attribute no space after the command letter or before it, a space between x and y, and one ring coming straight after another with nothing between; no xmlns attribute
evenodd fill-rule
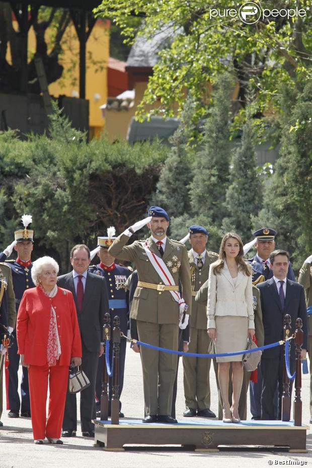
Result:
<svg viewBox="0 0 312 468"><path fill-rule="evenodd" d="M190 317L190 353L206 354L210 345L207 334L206 305L195 302L200 287L208 280L209 266L218 258L218 254L206 250L208 231L199 225L189 228L191 250L188 257L192 282L192 315ZM210 411L210 359L183 356L184 395L186 410L183 416L215 418Z"/></svg>

